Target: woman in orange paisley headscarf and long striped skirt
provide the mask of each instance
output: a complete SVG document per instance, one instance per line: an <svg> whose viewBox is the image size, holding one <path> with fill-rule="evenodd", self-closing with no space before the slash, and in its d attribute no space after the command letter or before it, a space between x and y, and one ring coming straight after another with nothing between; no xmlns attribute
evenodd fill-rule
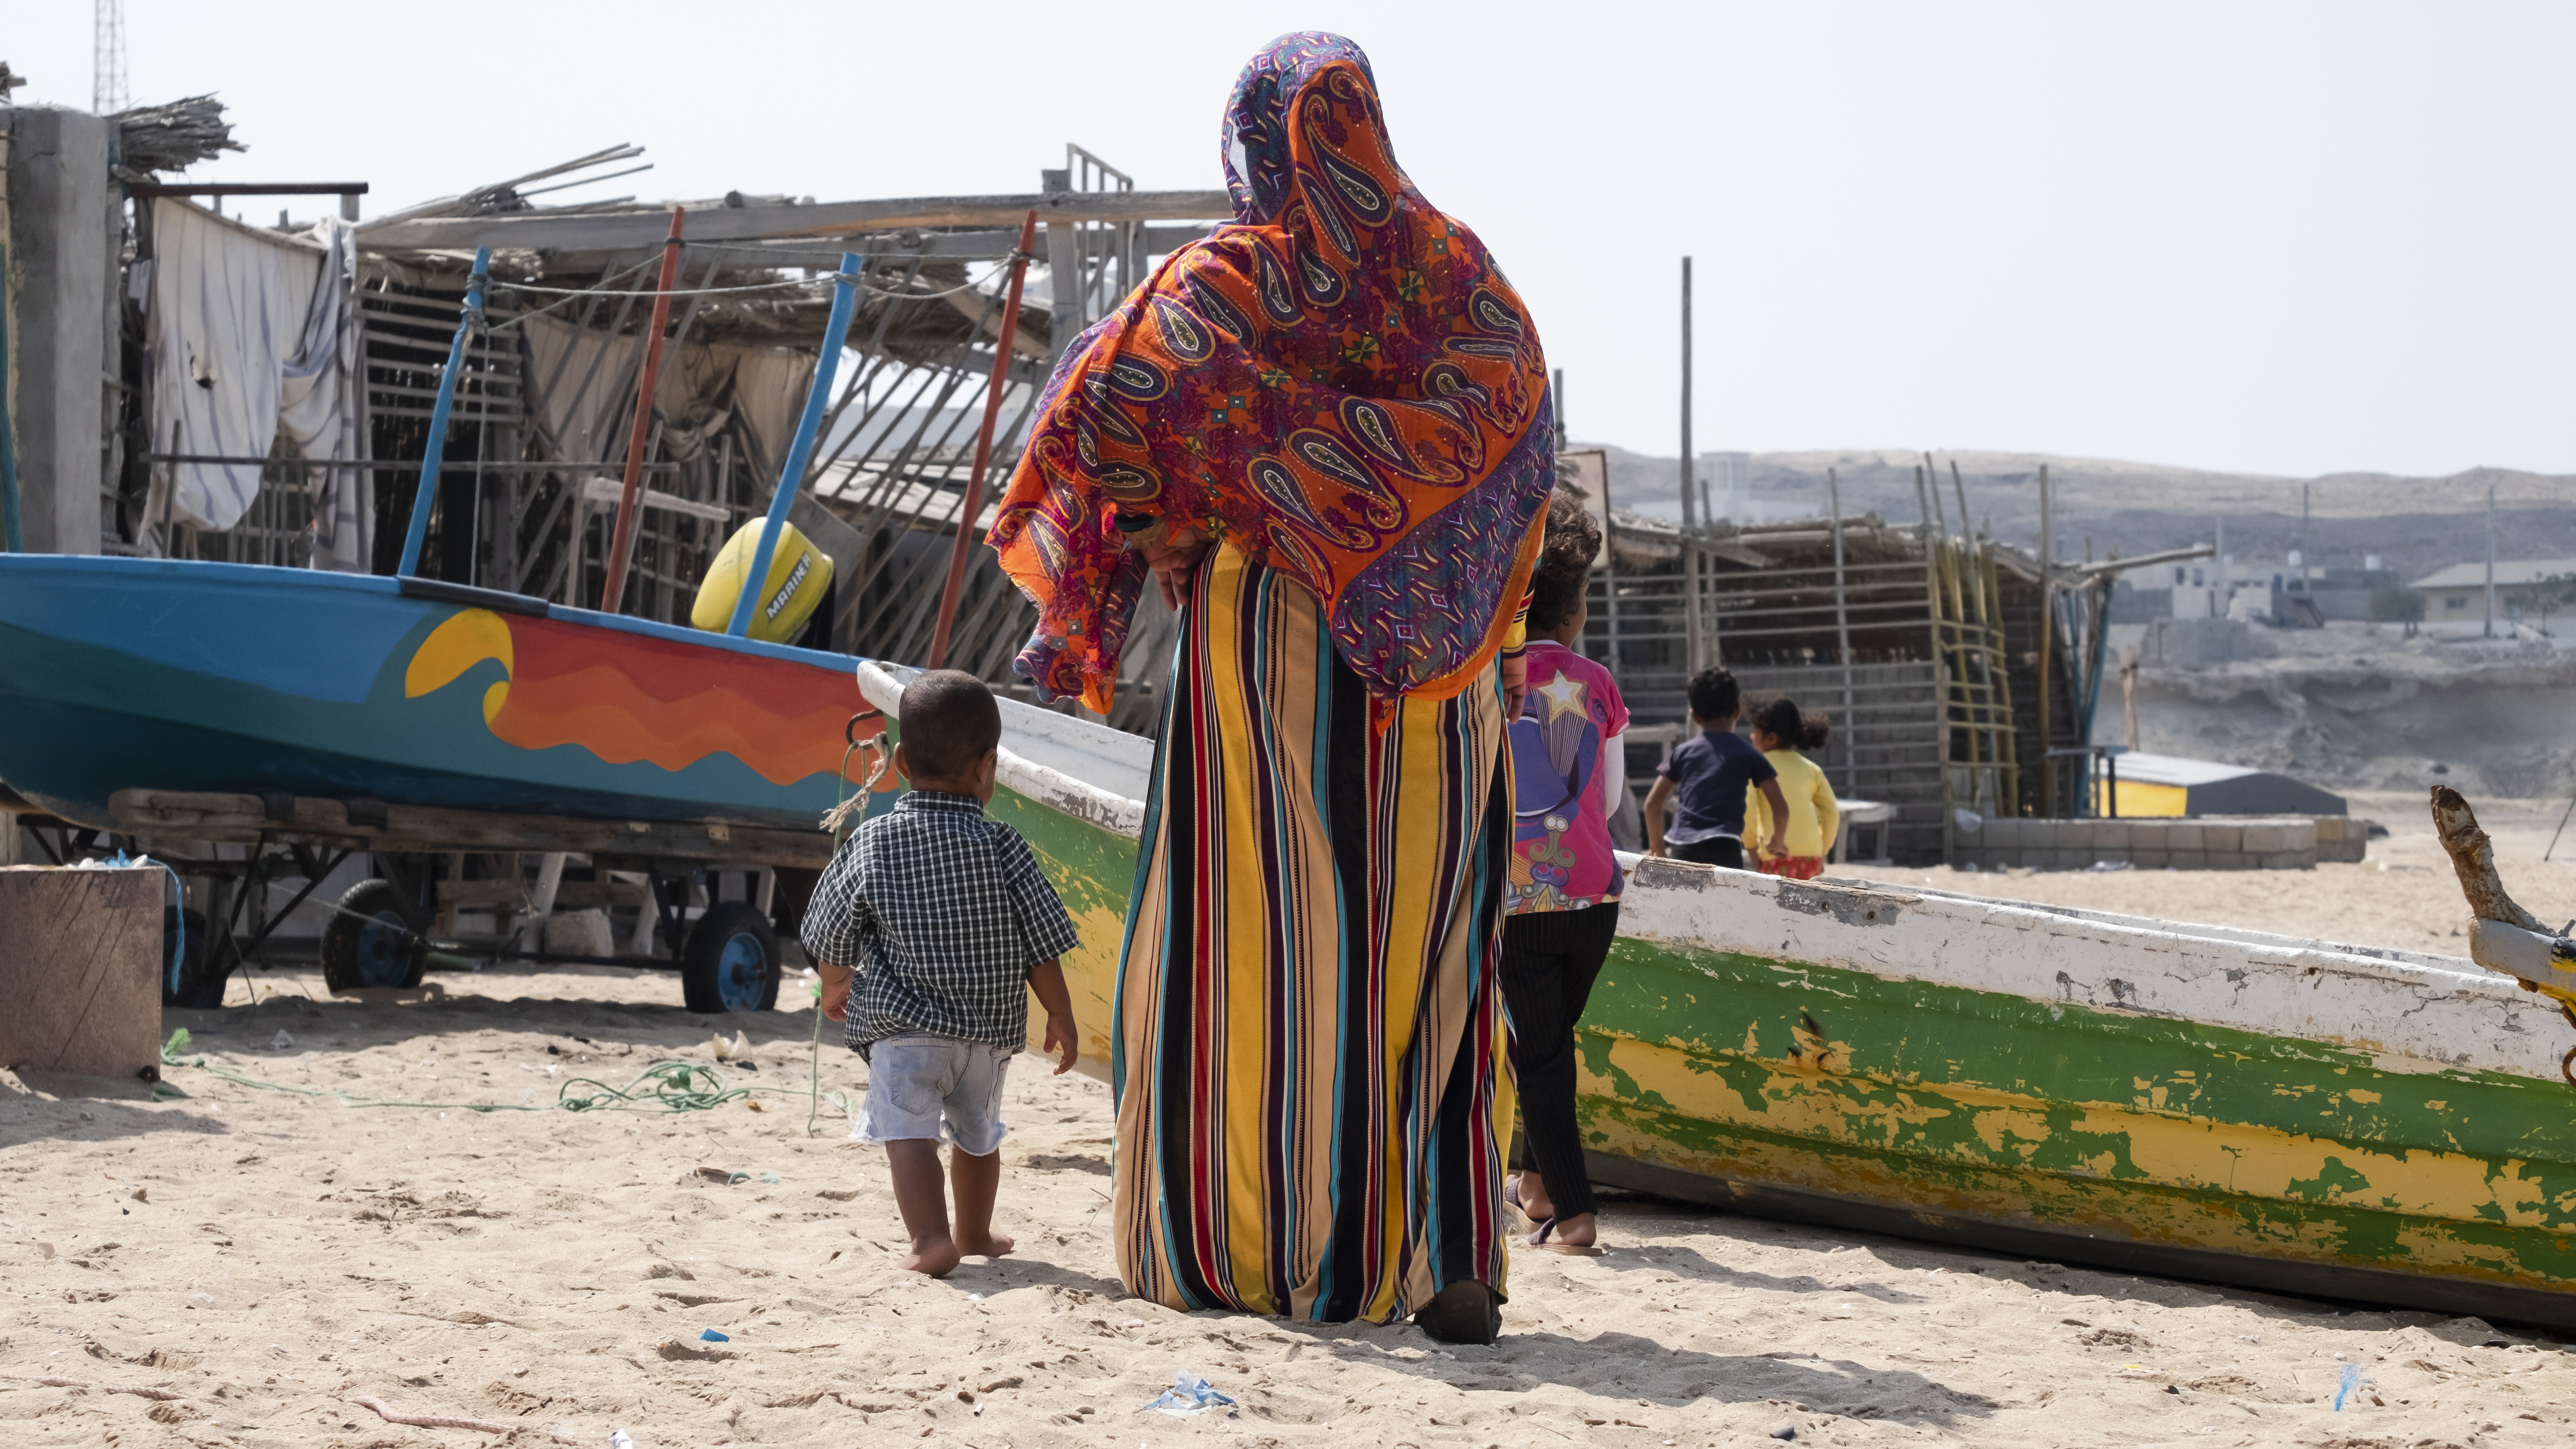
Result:
<svg viewBox="0 0 2576 1449"><path fill-rule="evenodd" d="M1146 574L1182 610L1118 983L1118 1269L1172 1307L1492 1341L1546 358L1350 41L1255 57L1224 149L1236 224L1066 353L992 530L1046 695L1108 708Z"/></svg>

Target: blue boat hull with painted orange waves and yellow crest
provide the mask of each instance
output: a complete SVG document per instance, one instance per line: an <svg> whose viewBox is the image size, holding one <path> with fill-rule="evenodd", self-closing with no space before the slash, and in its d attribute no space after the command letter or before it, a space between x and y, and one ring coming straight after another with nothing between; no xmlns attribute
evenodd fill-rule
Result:
<svg viewBox="0 0 2576 1449"><path fill-rule="evenodd" d="M842 654L433 579L0 556L0 780L111 795L814 829L866 710Z"/></svg>

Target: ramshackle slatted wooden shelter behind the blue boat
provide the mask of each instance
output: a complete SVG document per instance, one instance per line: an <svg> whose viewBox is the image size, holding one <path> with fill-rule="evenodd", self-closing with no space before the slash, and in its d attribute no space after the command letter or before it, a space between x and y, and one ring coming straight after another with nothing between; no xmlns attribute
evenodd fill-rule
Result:
<svg viewBox="0 0 2576 1449"><path fill-rule="evenodd" d="M1105 314L1151 257L1231 214L1221 190L1136 190L1082 147L1066 147L1066 165L1043 170L1030 196L814 203L732 193L680 203L683 245L641 453L641 512L621 597L600 600L672 206L528 198L636 152L611 147L361 224L363 456L317 463L281 443L258 461L260 492L232 528L173 522L160 502L165 474L196 461L252 461L155 448L144 363L129 347L137 376L121 427L131 445L116 543L137 553L299 566L312 561L330 481L355 468L368 481L374 571L392 571L469 260L489 247L495 286L464 355L422 574L685 623L714 553L762 515L778 486L793 409L822 345L829 273L842 252L858 252L850 358L791 512L835 561L832 602L801 641L917 664L997 376L1002 281L1020 221L1036 211L1046 237L999 368L987 504L1018 461L1061 345ZM152 206L137 203L126 268L149 263ZM142 317L129 314L126 327L139 342ZM989 520L989 507L979 512L974 528ZM1033 620L979 548L951 661L1028 697L1010 661ZM1136 672L1162 656L1164 628L1162 605L1149 602L1128 651ZM1151 682L1139 677L1121 690L1115 723L1151 728L1157 708Z"/></svg>

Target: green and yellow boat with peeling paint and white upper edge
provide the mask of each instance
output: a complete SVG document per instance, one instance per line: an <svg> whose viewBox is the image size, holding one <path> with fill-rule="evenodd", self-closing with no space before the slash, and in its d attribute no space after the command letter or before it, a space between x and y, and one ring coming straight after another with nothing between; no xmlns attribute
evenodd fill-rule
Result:
<svg viewBox="0 0 2576 1449"><path fill-rule="evenodd" d="M1005 705L1095 1071L1149 759ZM2468 960L1649 860L1579 1045L1602 1184L2576 1328L2576 1029Z"/></svg>

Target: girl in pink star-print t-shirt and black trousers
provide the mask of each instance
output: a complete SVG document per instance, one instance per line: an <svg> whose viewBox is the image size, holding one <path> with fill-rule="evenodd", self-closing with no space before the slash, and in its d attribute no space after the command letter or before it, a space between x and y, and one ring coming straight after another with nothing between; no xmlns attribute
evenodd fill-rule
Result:
<svg viewBox="0 0 2576 1449"><path fill-rule="evenodd" d="M1530 692L1512 721L1502 999L1535 1171L1520 1174L1507 1197L1535 1225L1533 1246L1589 1246L1597 1235L1574 1125L1574 1024L1618 934L1625 878L1610 852L1610 816L1628 790L1628 705L1610 672L1574 651L1600 546L1582 499L1548 499L1548 540L1530 577Z"/></svg>

